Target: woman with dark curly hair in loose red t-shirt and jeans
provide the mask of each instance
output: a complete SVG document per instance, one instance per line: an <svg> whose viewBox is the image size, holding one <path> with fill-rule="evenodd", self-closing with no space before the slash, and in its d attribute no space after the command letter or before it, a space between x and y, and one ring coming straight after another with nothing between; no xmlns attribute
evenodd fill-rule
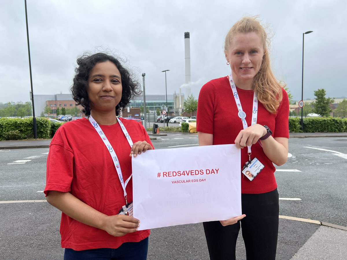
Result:
<svg viewBox="0 0 347 260"><path fill-rule="evenodd" d="M87 118L54 135L47 158L47 201L62 211L64 259L146 259L149 230L132 217L132 156L153 149L141 124L118 118L139 84L115 57L77 59L71 92Z"/></svg>

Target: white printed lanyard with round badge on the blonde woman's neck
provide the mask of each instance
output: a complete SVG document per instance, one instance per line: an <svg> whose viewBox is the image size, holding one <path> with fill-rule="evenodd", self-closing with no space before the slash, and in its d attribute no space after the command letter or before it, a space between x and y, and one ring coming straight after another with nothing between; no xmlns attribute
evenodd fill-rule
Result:
<svg viewBox="0 0 347 260"><path fill-rule="evenodd" d="M242 121L243 129L246 129L248 127L247 122L246 122L246 113L242 110L241 102L240 102L239 96L237 94L237 89L236 89L234 80L232 80L231 73L229 76L229 83L230 83L231 90L234 93L235 102L237 105L237 109L239 111L237 113L237 115ZM258 115L258 95L257 95L257 93L254 92L254 94L253 94L252 124L251 125L254 125L257 123L257 115ZM251 146L252 145L247 146L249 161L251 161Z"/></svg>

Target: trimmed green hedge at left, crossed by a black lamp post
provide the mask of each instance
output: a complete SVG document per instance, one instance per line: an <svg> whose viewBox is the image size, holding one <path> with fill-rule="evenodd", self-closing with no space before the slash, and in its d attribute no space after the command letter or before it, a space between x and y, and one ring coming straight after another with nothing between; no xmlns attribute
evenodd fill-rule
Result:
<svg viewBox="0 0 347 260"><path fill-rule="evenodd" d="M61 123L51 122L46 118L36 118L37 138L49 139ZM34 138L33 118L1 118L0 140L20 140Z"/></svg>

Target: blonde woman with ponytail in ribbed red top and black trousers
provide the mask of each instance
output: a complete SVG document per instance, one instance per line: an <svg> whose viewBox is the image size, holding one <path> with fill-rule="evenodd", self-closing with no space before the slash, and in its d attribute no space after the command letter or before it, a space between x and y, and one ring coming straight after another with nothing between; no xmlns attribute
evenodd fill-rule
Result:
<svg viewBox="0 0 347 260"><path fill-rule="evenodd" d="M287 161L288 95L271 71L269 40L257 17L243 17L231 27L225 57L230 75L209 81L199 94L199 144L236 144L242 169L251 161L263 169L252 181L240 172L243 215L204 223L210 259L236 259L241 223L247 260L271 260L279 215L273 164Z"/></svg>

